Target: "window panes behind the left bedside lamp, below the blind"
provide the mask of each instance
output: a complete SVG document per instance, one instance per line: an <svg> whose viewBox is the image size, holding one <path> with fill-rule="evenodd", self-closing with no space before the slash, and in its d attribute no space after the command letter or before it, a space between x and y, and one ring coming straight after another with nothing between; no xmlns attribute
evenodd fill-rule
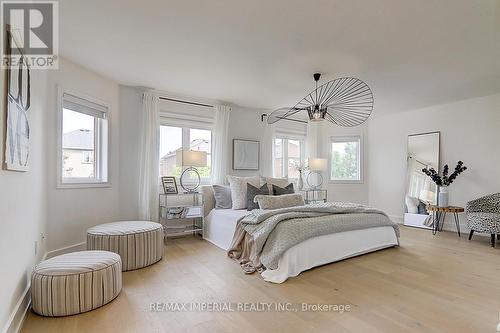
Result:
<svg viewBox="0 0 500 333"><path fill-rule="evenodd" d="M160 177L180 177L177 165L178 150L201 150L207 153L207 166L197 168L200 177L208 181L212 176L212 131L189 127L160 126Z"/></svg>

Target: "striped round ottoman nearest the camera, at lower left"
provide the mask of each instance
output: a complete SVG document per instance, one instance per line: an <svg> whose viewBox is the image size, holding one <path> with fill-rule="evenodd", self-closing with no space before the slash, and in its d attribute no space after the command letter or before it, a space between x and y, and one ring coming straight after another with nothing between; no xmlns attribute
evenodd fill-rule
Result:
<svg viewBox="0 0 500 333"><path fill-rule="evenodd" d="M33 311L69 316L111 302L122 290L120 256L107 251L63 254L36 265L31 274Z"/></svg>

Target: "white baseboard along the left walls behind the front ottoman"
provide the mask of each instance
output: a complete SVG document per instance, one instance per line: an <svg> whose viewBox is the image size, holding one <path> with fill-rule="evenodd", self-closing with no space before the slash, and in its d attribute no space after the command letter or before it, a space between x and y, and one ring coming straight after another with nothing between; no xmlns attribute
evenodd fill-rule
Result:
<svg viewBox="0 0 500 333"><path fill-rule="evenodd" d="M42 260L58 256L60 254L75 252L85 250L85 242L73 244L60 249L52 250L46 252ZM2 329L2 333L18 333L21 331L24 319L26 318L26 313L31 305L31 294L30 294L30 284L23 291L21 297L16 303L16 306L9 316L9 320Z"/></svg>

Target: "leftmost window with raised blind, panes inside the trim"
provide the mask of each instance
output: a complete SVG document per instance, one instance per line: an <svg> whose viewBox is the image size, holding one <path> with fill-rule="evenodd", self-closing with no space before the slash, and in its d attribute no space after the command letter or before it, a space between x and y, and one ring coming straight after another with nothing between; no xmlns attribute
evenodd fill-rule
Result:
<svg viewBox="0 0 500 333"><path fill-rule="evenodd" d="M107 184L108 107L62 93L59 185Z"/></svg>

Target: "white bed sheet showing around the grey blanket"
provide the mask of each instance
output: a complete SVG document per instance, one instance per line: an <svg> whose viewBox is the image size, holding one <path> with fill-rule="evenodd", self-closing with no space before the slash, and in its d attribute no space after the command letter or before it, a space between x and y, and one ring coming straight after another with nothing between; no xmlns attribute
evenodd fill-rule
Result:
<svg viewBox="0 0 500 333"><path fill-rule="evenodd" d="M206 195L210 195L208 192ZM227 251L233 240L236 223L247 210L212 209L212 198L206 198L203 237ZM207 206L208 205L208 206ZM392 227L378 227L346 231L308 239L288 249L280 258L278 269L266 270L261 275L265 281L282 283L289 277L313 267L355 257L361 254L399 245ZM328 251L326 251L328 249Z"/></svg>

